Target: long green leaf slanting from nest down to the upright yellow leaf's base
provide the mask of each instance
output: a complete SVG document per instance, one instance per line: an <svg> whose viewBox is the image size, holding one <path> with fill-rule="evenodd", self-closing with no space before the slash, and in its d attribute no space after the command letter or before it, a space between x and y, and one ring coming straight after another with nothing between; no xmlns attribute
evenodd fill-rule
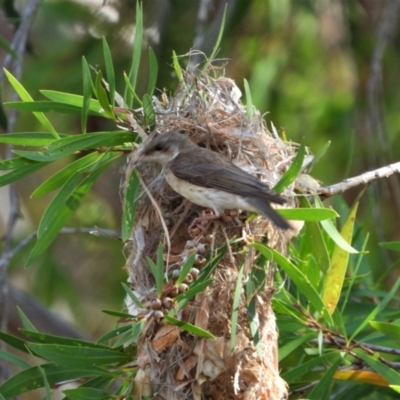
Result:
<svg viewBox="0 0 400 400"><path fill-rule="evenodd" d="M331 315L306 275L304 275L294 264L277 251L268 248L261 243L252 243L251 246L258 250L267 260L277 262L297 286L297 289L306 296L315 310L324 315L326 322L329 325L332 325L333 321Z"/></svg>

